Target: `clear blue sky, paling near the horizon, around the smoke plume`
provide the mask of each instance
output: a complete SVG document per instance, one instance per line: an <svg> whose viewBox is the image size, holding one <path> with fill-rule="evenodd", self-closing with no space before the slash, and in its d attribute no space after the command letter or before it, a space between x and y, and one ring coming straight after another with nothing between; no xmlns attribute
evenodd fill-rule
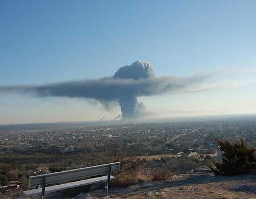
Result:
<svg viewBox="0 0 256 199"><path fill-rule="evenodd" d="M242 69L253 72L230 80L255 80L255 10L255 1L4 0L0 86L112 76L135 60L150 61L156 74ZM148 111L168 110L172 117L255 113L256 86L240 83L139 100ZM0 124L111 119L119 113L119 107L105 110L80 99L0 97Z"/></svg>

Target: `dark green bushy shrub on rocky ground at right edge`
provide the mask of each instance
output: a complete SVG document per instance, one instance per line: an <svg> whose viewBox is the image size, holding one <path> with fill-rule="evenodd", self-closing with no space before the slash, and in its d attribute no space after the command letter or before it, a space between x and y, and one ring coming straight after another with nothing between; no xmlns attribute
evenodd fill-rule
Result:
<svg viewBox="0 0 256 199"><path fill-rule="evenodd" d="M222 161L211 167L216 175L239 175L250 173L256 169L256 148L247 148L243 139L240 143L230 143L227 140L216 140L222 152Z"/></svg>

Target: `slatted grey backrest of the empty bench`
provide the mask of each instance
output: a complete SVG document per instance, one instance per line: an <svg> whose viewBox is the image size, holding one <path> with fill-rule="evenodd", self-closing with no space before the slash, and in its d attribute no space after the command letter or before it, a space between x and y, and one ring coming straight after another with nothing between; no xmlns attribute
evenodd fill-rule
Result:
<svg viewBox="0 0 256 199"><path fill-rule="evenodd" d="M111 170L110 170L111 167ZM69 180L79 180L89 177L104 176L110 173L118 173L120 163L101 164L93 167L85 167L79 169L72 169L68 171L61 171L55 173L47 173L38 176L30 176L28 186L35 187L42 185L45 180L45 185L61 183Z"/></svg>

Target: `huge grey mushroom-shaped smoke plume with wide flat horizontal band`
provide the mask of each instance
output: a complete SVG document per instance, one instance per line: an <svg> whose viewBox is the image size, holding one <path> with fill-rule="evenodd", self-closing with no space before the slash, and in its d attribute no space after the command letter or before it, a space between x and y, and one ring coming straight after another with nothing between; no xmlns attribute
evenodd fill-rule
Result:
<svg viewBox="0 0 256 199"><path fill-rule="evenodd" d="M143 103L137 97L155 96L174 91L187 91L209 76L177 78L156 76L154 69L147 61L135 61L121 67L112 77L98 80L67 81L41 86L0 86L0 92L31 94L36 97L76 97L90 98L108 106L117 101L121 107L122 118L133 118L138 115Z"/></svg>

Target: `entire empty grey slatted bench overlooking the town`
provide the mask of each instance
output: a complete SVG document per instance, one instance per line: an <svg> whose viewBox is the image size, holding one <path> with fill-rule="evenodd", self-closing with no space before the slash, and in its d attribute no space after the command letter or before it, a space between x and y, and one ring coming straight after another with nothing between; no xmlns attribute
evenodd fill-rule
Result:
<svg viewBox="0 0 256 199"><path fill-rule="evenodd" d="M101 164L94 167L85 167L68 171L47 173L38 176L30 176L28 187L39 188L26 190L24 191L24 194L26 196L41 194L41 197L43 198L44 194L47 192L54 192L56 190L63 190L77 186L105 182L106 194L108 196L109 181L115 179L115 177L111 174L118 173L119 169L120 163L117 162L110 164Z"/></svg>

